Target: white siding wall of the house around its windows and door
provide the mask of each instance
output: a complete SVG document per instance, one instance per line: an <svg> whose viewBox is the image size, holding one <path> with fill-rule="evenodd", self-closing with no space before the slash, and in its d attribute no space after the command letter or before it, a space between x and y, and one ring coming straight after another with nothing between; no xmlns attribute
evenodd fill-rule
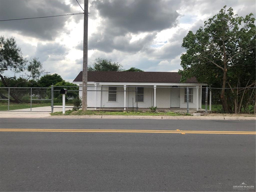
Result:
<svg viewBox="0 0 256 192"><path fill-rule="evenodd" d="M82 86L82 84L79 84ZM113 85L97 85L96 91L96 107L124 107L124 87L117 86L117 95L116 95L116 102L108 101L108 86ZM114 87L114 86L113 86ZM141 85L138 87L142 87ZM170 86L161 86L166 88L159 88L156 87L156 106L157 108L170 108L170 98L172 94L172 89ZM193 86L196 87L196 86ZM175 102L179 102L180 108L187 108L187 103L184 102L184 89L186 86L180 86L179 89L179 98ZM176 88L178 89L178 88ZM79 88L82 90L82 87ZM88 91L87 92L87 102L88 107L93 107L89 109L94 109L95 107L95 91L94 91L94 84L88 84ZM125 107L132 107L136 108L136 101L135 101L135 86L126 86L126 106ZM200 108L201 103L201 89L199 88L199 103L198 106ZM79 91L79 97L82 98L82 91ZM132 103L133 99L133 103ZM193 102L189 103L189 108L196 108L196 88L193 88ZM148 108L154 105L154 88L153 86L147 86L144 88L144 101L138 102L138 108Z"/></svg>

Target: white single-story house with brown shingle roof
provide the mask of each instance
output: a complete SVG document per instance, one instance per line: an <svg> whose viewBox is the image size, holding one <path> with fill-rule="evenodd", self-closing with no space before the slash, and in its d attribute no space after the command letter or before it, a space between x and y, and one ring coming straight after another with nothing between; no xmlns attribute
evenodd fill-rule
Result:
<svg viewBox="0 0 256 192"><path fill-rule="evenodd" d="M82 71L73 83L82 90ZM88 71L88 108L201 108L201 87L196 78L180 83L177 72ZM82 97L82 91L79 92Z"/></svg>

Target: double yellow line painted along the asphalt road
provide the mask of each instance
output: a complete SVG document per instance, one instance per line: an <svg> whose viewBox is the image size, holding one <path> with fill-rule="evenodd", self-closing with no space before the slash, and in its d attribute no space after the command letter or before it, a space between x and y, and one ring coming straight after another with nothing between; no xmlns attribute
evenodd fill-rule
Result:
<svg viewBox="0 0 256 192"><path fill-rule="evenodd" d="M178 133L178 134L240 134L256 135L255 131L187 131L187 130L130 130L130 129L0 129L3 132L100 132L100 133Z"/></svg>

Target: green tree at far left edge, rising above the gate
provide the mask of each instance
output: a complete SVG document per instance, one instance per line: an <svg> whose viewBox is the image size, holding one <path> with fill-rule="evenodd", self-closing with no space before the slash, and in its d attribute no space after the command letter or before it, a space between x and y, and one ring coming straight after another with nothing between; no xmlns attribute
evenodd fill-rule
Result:
<svg viewBox="0 0 256 192"><path fill-rule="evenodd" d="M15 74L26 69L27 60L23 58L20 47L17 46L13 37L4 38L0 36L0 77L5 87L8 87L7 81L16 79ZM13 71L14 77L3 76L4 71Z"/></svg>

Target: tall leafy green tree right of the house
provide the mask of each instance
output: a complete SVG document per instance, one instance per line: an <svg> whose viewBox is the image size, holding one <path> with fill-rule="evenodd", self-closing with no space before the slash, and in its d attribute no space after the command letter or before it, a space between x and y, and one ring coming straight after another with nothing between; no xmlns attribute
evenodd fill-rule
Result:
<svg viewBox="0 0 256 192"><path fill-rule="evenodd" d="M220 100L225 112L232 112L230 96L234 96L233 90L225 90L227 86L255 85L255 18L252 15L239 17L233 14L232 8L226 10L224 6L204 22L205 28L200 27L195 34L189 31L183 39L182 47L187 51L181 56L181 81L195 76L200 82L223 88ZM242 97L238 99L236 96L235 112L242 105Z"/></svg>

